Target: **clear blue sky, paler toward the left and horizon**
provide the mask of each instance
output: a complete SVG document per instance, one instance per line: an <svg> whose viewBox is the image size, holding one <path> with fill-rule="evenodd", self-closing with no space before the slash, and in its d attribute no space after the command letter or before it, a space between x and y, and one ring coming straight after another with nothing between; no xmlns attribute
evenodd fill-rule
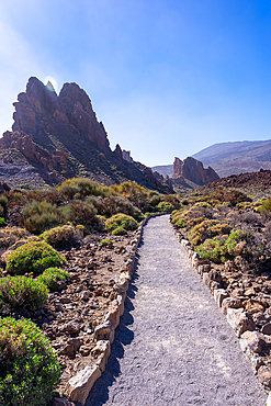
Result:
<svg viewBox="0 0 271 406"><path fill-rule="evenodd" d="M271 138L271 2L0 0L0 134L27 79L77 82L148 166Z"/></svg>

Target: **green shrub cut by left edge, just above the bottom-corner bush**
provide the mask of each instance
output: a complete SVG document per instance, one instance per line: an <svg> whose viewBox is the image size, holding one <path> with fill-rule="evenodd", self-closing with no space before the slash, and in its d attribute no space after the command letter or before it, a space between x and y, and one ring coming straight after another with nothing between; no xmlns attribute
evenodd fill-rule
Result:
<svg viewBox="0 0 271 406"><path fill-rule="evenodd" d="M48 290L41 281L26 277L0 278L0 307L3 303L12 308L25 307L30 312L43 307L48 298Z"/></svg>

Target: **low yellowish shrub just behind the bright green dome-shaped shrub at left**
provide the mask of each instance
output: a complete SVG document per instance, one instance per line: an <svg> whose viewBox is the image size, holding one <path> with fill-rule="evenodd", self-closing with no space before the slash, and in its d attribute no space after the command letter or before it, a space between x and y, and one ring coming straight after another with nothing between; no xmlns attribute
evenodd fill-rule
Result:
<svg viewBox="0 0 271 406"><path fill-rule="evenodd" d="M79 239L79 232L69 225L50 228L41 234L37 238L38 241L44 240L54 248L63 248L67 245L72 245L78 243Z"/></svg>

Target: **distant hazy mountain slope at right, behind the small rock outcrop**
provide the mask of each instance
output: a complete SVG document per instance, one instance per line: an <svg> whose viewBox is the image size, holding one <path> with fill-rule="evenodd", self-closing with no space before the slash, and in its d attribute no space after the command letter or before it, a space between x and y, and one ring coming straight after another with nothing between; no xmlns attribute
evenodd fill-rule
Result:
<svg viewBox="0 0 271 406"><path fill-rule="evenodd" d="M214 168L221 178L271 169L271 139L214 144L193 157Z"/></svg>

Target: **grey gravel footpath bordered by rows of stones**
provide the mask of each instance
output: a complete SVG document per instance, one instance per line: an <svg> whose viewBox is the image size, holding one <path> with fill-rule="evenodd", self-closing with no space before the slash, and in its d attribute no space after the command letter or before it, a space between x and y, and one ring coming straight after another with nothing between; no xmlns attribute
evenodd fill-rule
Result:
<svg viewBox="0 0 271 406"><path fill-rule="evenodd" d="M144 228L105 372L87 406L264 406L249 360L169 216Z"/></svg>

